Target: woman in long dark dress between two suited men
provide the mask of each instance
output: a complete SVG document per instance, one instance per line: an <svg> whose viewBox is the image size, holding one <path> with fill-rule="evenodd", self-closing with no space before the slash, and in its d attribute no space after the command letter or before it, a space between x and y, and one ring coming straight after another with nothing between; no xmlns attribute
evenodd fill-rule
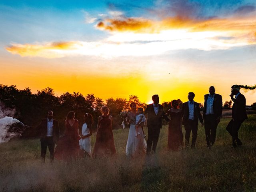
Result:
<svg viewBox="0 0 256 192"><path fill-rule="evenodd" d="M183 134L181 130L182 112L178 108L178 101L172 101L172 108L166 113L170 115L170 122L168 128L168 150L179 150L183 146Z"/></svg>

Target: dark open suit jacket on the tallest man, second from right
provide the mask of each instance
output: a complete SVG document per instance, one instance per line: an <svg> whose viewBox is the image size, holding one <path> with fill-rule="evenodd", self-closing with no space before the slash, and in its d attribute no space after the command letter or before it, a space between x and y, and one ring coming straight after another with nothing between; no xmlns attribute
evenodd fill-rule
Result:
<svg viewBox="0 0 256 192"><path fill-rule="evenodd" d="M204 110L203 110L203 118L206 114L206 106L207 106L207 100L210 94L204 95ZM219 94L214 94L213 99L213 113L214 117L221 117L222 115L222 96Z"/></svg>

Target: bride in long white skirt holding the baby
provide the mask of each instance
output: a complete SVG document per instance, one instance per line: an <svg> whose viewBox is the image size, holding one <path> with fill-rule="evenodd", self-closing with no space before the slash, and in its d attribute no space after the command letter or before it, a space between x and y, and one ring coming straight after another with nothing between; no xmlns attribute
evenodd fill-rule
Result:
<svg viewBox="0 0 256 192"><path fill-rule="evenodd" d="M126 156L134 158L146 154L147 143L144 138L144 134L141 126L138 128L139 136L136 137L136 103L130 104L131 111L128 113L126 122L130 123L130 129L128 134L128 140L126 144Z"/></svg>

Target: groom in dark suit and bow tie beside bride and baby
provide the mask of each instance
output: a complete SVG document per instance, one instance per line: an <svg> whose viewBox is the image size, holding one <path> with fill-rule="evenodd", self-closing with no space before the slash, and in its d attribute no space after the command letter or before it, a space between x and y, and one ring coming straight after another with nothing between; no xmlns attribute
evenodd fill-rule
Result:
<svg viewBox="0 0 256 192"><path fill-rule="evenodd" d="M148 114L147 127L148 127L148 141L147 141L147 154L149 155L156 152L156 145L158 142L160 128L162 127L162 118L169 121L168 117L163 111L163 106L159 104L158 95L152 96L153 103L148 105L145 114Z"/></svg>

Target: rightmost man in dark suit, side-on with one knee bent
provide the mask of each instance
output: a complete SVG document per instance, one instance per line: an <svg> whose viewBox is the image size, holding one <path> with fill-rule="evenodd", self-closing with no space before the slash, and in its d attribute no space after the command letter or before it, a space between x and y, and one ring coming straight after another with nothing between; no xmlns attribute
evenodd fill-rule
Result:
<svg viewBox="0 0 256 192"><path fill-rule="evenodd" d="M226 130L232 136L232 145L234 148L242 145L242 142L238 138L238 130L247 119L246 114L246 99L243 94L240 93L240 87L238 85L233 85L231 87L231 100L234 102L232 106L232 120L228 123ZM235 98L234 98L235 96Z"/></svg>

